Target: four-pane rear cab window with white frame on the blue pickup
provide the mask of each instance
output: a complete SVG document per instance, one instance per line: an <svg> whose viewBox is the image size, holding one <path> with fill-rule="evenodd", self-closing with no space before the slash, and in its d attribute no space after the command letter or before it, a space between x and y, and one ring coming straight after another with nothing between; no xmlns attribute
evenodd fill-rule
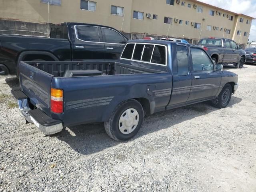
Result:
<svg viewBox="0 0 256 192"><path fill-rule="evenodd" d="M128 43L121 59L134 60L156 65L167 65L167 46L146 43Z"/></svg>

